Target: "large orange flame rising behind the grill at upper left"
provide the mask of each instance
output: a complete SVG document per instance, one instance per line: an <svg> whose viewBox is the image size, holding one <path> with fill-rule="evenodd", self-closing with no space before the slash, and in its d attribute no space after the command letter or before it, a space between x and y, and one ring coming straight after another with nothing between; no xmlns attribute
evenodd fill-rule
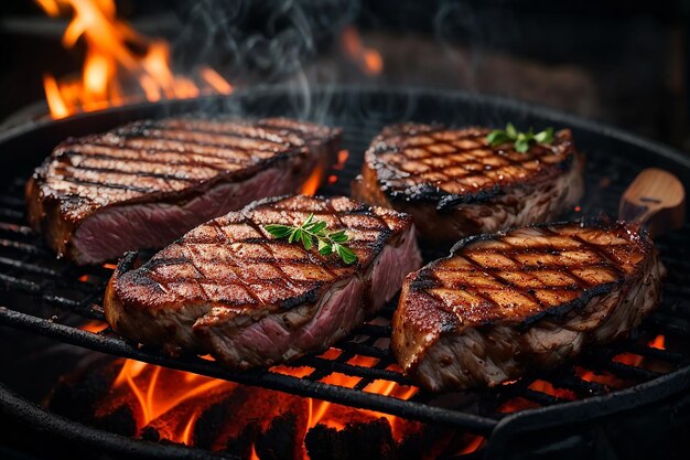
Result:
<svg viewBox="0 0 690 460"><path fill-rule="evenodd" d="M45 75L43 85L51 116L64 118L128 100L191 98L201 93L230 94L233 86L211 67L200 69L200 83L175 75L168 43L148 39L117 19L114 0L36 0L51 17L72 11L63 35L67 49L83 39L86 57L80 78L60 82ZM143 54L132 51L132 45ZM200 85L202 89L200 89Z"/></svg>

